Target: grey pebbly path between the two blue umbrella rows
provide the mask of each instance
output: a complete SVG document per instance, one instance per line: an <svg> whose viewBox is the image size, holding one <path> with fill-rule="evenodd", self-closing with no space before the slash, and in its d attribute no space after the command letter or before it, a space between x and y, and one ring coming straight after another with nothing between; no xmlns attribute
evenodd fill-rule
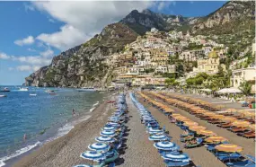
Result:
<svg viewBox="0 0 256 167"><path fill-rule="evenodd" d="M154 148L154 142L148 140L146 127L140 123L139 114L133 102L127 95L128 110L130 120L128 121L128 129L130 129L127 137L127 146L124 154L120 155L123 163L117 166L124 167L163 167L163 159Z"/></svg>

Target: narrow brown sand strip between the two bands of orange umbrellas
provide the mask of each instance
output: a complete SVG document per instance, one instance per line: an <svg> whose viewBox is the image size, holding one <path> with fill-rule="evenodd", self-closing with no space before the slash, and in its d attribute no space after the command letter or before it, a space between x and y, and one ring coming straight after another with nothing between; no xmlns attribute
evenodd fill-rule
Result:
<svg viewBox="0 0 256 167"><path fill-rule="evenodd" d="M149 95L149 94L148 94ZM153 97L152 95L149 95L150 97ZM248 138L244 138L243 136L237 136L236 134L234 134L231 131L228 131L225 128L221 128L221 127L216 127L216 125L214 124L210 124L208 123L206 120L202 120L197 118L194 115L191 115L189 112L187 112L186 110L181 110L179 108L173 107L172 105L169 105L168 103L160 100L163 104L166 104L168 106L170 106L170 108L172 108L173 110L175 110L175 113L181 114L182 116L191 119L195 122L198 122L199 125L203 126L203 127L207 127L208 130L211 130L213 132L215 132L218 136L224 136L226 139L228 139L228 141L234 145L240 145L243 147L243 152L242 154L255 154L255 141L253 141L253 138L248 139ZM161 122L161 121L160 121ZM194 150L194 149L191 149Z"/></svg>

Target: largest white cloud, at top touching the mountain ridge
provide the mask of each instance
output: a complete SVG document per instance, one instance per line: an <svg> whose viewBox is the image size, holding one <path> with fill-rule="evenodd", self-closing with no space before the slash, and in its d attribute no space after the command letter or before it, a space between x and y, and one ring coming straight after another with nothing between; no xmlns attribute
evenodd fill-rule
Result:
<svg viewBox="0 0 256 167"><path fill-rule="evenodd" d="M55 48L65 50L75 47L102 31L107 24L119 22L132 10L141 11L154 2L150 1L86 1L86 2L32 2L40 11L50 14L57 21L66 25L60 31L40 34L37 39Z"/></svg>

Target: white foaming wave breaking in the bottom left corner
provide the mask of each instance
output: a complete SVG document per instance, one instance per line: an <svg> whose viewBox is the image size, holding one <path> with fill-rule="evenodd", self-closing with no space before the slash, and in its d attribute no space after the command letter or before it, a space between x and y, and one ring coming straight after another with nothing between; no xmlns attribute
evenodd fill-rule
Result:
<svg viewBox="0 0 256 167"><path fill-rule="evenodd" d="M23 153L26 153L26 152L30 151L31 149L33 149L34 147L39 146L39 145L42 145L42 143L37 142L34 145L27 145L27 146L21 148L20 150L17 150L13 154L10 154L10 155L7 155L7 156L4 156L4 157L0 158L0 167L5 165L5 163L4 163L5 161L10 160L10 159L12 159L16 156L19 156Z"/></svg>

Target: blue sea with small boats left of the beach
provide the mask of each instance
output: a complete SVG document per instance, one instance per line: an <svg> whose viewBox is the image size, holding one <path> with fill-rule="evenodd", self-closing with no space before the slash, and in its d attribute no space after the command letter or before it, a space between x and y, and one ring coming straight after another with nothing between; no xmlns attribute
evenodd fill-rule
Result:
<svg viewBox="0 0 256 167"><path fill-rule="evenodd" d="M8 87L0 92L0 167L60 136L93 114L108 96L100 92L78 92L66 88ZM50 95L47 90L54 90ZM36 95L31 95L36 94ZM75 116L72 110L75 110ZM25 139L24 139L25 136Z"/></svg>

